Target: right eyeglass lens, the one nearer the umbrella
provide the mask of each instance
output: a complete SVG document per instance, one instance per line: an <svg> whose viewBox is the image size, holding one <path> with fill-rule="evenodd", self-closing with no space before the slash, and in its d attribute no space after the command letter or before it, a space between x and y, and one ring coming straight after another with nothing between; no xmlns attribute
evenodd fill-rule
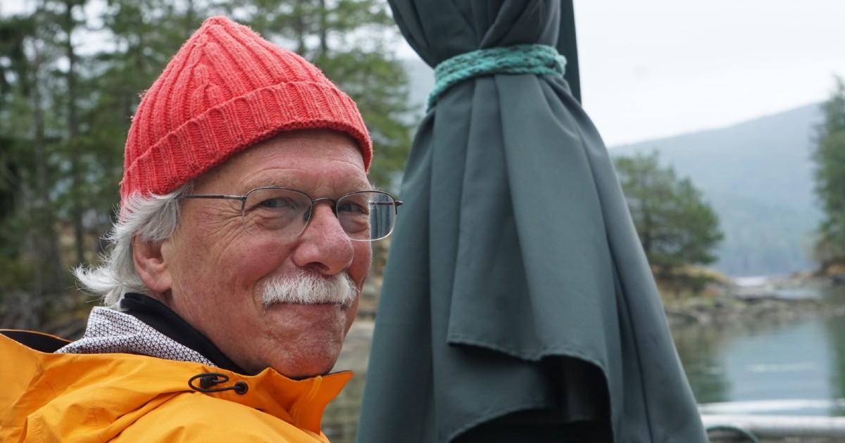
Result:
<svg viewBox="0 0 845 443"><path fill-rule="evenodd" d="M355 192L338 200L337 218L352 240L383 239L393 230L396 202L384 192Z"/></svg>

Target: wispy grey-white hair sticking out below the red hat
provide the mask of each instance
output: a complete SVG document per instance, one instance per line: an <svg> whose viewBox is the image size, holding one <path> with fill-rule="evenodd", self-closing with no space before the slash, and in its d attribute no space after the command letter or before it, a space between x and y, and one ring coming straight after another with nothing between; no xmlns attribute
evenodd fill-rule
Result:
<svg viewBox="0 0 845 443"><path fill-rule="evenodd" d="M134 193L124 198L117 222L105 237L112 244L100 265L74 269L79 289L100 296L105 305L117 304L129 292L147 294L135 272L132 239L137 235L142 241L155 242L173 235L179 220L177 197L188 194L191 188L188 182L164 195Z"/></svg>

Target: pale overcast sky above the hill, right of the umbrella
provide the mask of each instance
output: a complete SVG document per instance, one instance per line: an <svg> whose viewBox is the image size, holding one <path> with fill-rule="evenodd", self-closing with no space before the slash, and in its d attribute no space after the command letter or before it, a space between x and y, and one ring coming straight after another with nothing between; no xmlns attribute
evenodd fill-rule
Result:
<svg viewBox="0 0 845 443"><path fill-rule="evenodd" d="M825 100L843 0L575 0L584 107L608 145Z"/></svg>

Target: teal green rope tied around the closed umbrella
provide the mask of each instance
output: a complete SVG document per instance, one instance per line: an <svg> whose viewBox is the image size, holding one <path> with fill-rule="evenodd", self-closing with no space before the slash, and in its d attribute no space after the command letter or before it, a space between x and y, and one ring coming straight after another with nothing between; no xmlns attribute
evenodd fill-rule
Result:
<svg viewBox="0 0 845 443"><path fill-rule="evenodd" d="M467 78L490 74L559 75L566 70L566 57L554 46L515 45L479 49L444 60L434 68L434 89L428 95L428 108L437 103L440 95Z"/></svg>

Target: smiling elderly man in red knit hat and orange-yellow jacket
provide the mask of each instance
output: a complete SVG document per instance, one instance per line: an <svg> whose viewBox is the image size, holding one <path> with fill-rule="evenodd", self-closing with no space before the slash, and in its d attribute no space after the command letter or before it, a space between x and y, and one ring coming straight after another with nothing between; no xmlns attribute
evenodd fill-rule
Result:
<svg viewBox="0 0 845 443"><path fill-rule="evenodd" d="M3 441L324 441L325 375L396 207L352 100L212 18L144 94L85 336L0 337Z"/></svg>

